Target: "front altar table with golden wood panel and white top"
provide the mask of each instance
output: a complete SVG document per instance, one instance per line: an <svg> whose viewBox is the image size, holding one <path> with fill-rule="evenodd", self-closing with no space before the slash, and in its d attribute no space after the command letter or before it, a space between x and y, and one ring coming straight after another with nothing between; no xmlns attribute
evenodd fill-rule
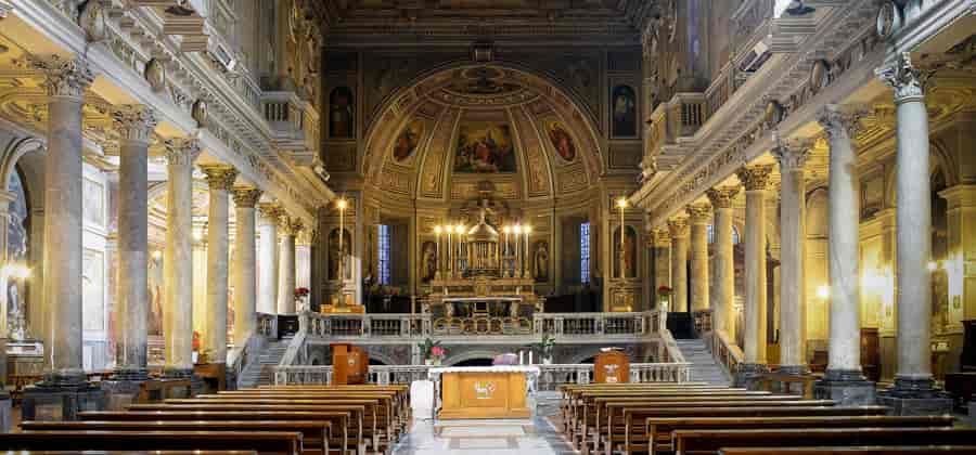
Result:
<svg viewBox="0 0 976 455"><path fill-rule="evenodd" d="M529 418L528 395L539 367L459 366L431 368L440 391L438 418Z"/></svg>

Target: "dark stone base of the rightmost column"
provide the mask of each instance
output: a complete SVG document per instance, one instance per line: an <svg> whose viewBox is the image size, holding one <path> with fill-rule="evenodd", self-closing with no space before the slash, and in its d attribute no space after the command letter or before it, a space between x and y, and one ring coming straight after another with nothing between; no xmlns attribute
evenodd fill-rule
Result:
<svg viewBox="0 0 976 455"><path fill-rule="evenodd" d="M932 376L896 377L894 387L878 392L877 404L891 407L891 414L897 416L952 413L951 395L937 389Z"/></svg>

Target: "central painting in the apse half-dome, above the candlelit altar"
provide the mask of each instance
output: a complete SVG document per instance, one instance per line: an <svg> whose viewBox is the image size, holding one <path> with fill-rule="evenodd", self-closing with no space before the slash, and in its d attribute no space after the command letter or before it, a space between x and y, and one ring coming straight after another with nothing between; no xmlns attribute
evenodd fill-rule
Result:
<svg viewBox="0 0 976 455"><path fill-rule="evenodd" d="M468 121L461 125L454 172L515 172L512 127L501 122Z"/></svg>

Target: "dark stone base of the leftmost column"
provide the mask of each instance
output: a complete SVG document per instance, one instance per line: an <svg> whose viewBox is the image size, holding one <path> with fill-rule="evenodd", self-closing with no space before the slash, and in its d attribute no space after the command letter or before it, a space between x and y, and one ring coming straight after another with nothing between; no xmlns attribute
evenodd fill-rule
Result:
<svg viewBox="0 0 976 455"><path fill-rule="evenodd" d="M22 420L77 420L79 412L105 410L105 392L77 378L74 374L48 374L43 381L25 388Z"/></svg>

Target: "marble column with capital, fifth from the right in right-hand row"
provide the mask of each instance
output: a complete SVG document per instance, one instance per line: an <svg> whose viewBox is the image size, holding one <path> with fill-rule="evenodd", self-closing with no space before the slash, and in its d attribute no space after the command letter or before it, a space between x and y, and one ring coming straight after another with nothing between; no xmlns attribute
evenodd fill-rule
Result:
<svg viewBox="0 0 976 455"><path fill-rule="evenodd" d="M735 339L735 260L732 245L732 200L739 194L739 186L723 186L708 190L708 200L715 211L715 302L711 324L716 330L724 332L730 340Z"/></svg>

